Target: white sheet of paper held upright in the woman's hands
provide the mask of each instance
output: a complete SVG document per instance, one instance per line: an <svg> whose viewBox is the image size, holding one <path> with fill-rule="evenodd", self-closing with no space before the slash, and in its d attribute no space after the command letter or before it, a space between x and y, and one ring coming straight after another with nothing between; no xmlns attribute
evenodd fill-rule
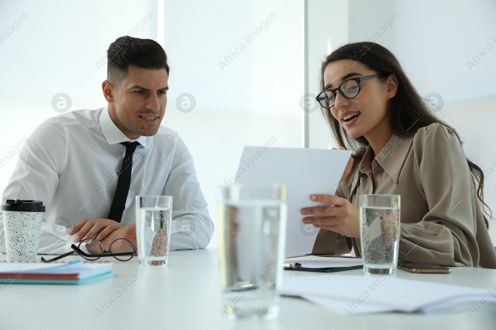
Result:
<svg viewBox="0 0 496 330"><path fill-rule="evenodd" d="M303 223L300 209L329 205L312 202L310 195L334 195L350 155L350 150L258 146L243 149L238 168L238 173L243 174L237 182L280 183L288 189L285 256L311 253L319 229Z"/></svg>

